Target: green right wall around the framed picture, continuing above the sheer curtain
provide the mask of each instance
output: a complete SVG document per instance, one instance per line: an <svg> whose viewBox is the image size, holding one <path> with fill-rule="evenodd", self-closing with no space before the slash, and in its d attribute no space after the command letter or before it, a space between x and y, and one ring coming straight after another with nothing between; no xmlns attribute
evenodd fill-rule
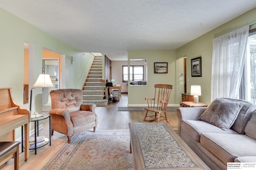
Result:
<svg viewBox="0 0 256 170"><path fill-rule="evenodd" d="M190 92L191 85L201 86L202 96L199 96L199 102L203 102L208 105L211 103L212 40L225 33L256 23L255 16L256 8L176 49L177 59L184 56L187 58L187 92ZM192 77L191 59L199 55L202 56L202 77Z"/></svg>

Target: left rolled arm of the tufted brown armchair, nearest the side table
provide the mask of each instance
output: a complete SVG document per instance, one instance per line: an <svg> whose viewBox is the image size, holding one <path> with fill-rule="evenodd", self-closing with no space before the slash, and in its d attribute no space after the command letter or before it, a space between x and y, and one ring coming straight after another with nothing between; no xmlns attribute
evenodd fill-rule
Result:
<svg viewBox="0 0 256 170"><path fill-rule="evenodd" d="M66 109L51 109L52 130L65 135L73 134L73 123L71 122L70 115Z"/></svg>

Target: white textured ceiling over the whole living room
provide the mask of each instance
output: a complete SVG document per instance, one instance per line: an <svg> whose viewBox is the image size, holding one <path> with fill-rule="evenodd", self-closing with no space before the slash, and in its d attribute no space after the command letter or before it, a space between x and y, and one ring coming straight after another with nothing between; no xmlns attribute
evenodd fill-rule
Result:
<svg viewBox="0 0 256 170"><path fill-rule="evenodd" d="M0 7L82 52L177 49L256 7L256 0L0 0Z"/></svg>

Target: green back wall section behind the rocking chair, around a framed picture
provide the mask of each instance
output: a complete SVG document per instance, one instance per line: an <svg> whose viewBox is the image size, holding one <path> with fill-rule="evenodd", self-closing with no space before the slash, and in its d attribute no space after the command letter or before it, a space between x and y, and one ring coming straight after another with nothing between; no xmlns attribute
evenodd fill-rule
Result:
<svg viewBox="0 0 256 170"><path fill-rule="evenodd" d="M155 84L171 84L173 89L169 104L176 104L176 56L175 50L128 50L130 59L147 59L147 85L130 86L128 83L128 106L145 106L145 97L154 98ZM168 73L154 73L154 63L167 62Z"/></svg>

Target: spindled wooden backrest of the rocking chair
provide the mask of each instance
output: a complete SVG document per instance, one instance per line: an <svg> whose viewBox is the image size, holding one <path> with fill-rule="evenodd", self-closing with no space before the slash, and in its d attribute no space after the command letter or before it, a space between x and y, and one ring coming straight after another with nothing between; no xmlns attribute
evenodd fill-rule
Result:
<svg viewBox="0 0 256 170"><path fill-rule="evenodd" d="M155 84L154 107L156 106L157 109L161 109L162 111L165 111L167 109L171 90L172 90L172 85ZM165 101L165 102L161 102L161 101Z"/></svg>

